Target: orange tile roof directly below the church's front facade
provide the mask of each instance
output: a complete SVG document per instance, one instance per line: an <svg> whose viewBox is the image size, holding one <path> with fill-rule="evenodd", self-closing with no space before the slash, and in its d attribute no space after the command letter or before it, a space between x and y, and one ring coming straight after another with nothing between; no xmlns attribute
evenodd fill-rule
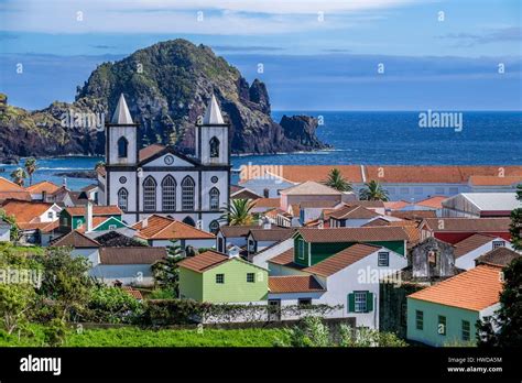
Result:
<svg viewBox="0 0 522 383"><path fill-rule="evenodd" d="M146 226L145 225L146 221ZM157 215L150 216L146 220L141 220L132 226L138 230L137 237L148 240L175 240L175 239L214 239L210 232L196 229L173 218Z"/></svg>

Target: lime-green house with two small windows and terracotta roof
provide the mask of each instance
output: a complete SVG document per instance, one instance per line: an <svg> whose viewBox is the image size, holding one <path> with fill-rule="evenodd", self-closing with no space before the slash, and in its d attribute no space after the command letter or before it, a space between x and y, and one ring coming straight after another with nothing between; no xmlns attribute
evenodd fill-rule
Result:
<svg viewBox="0 0 522 383"><path fill-rule="evenodd" d="M268 298L268 271L215 251L186 258L180 266L180 297L209 303L250 303Z"/></svg>

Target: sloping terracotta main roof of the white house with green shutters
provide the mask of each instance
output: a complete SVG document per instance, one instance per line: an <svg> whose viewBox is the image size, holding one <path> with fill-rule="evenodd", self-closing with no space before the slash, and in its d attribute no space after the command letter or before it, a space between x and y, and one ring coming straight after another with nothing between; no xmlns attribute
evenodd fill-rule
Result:
<svg viewBox="0 0 522 383"><path fill-rule="evenodd" d="M313 266L303 269L303 271L311 274L330 276L381 249L381 247L371 244L356 243Z"/></svg>

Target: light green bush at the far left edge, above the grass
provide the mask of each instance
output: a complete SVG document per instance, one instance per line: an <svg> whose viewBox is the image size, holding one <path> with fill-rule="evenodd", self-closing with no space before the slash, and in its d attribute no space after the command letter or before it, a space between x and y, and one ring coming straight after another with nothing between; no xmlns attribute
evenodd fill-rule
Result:
<svg viewBox="0 0 522 383"><path fill-rule="evenodd" d="M34 302L34 288L23 284L0 284L0 317L8 333L23 327Z"/></svg>

